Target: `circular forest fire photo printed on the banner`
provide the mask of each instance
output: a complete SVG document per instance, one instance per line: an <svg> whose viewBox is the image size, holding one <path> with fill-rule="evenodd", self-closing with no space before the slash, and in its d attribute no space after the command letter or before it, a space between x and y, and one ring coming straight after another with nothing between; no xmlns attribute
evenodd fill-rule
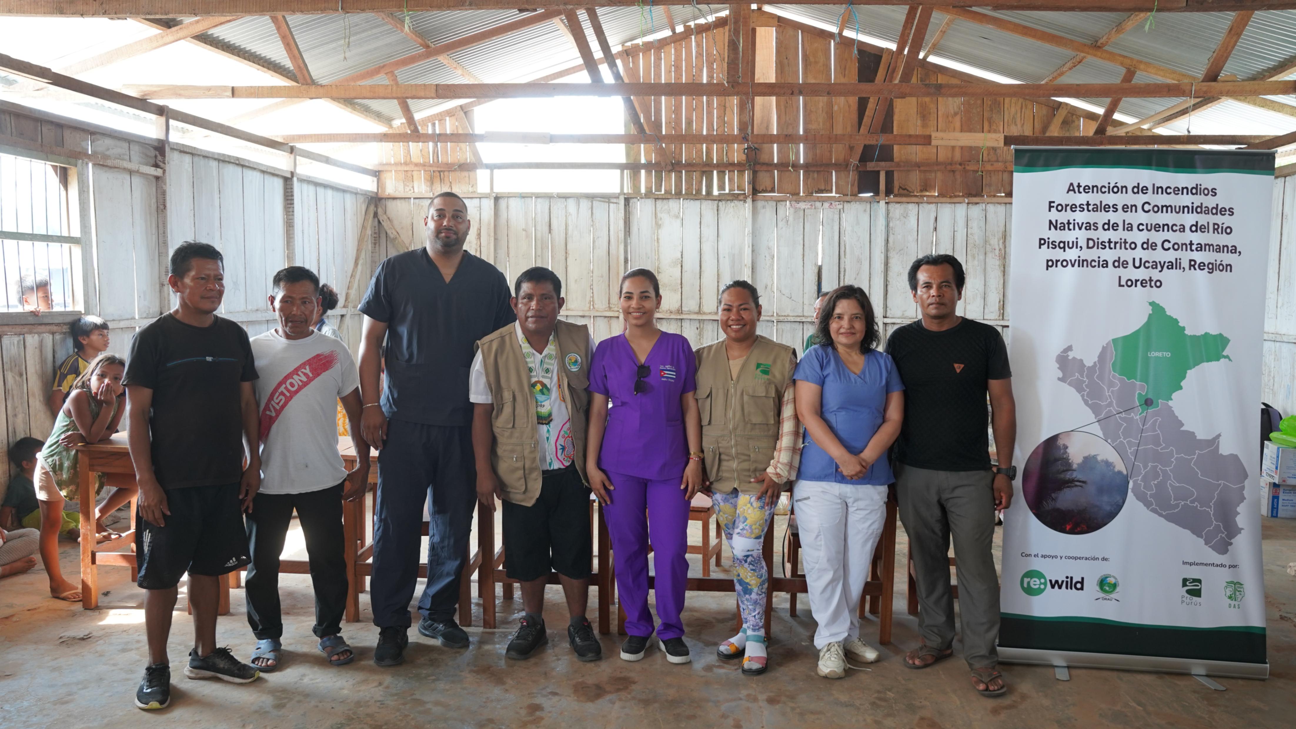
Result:
<svg viewBox="0 0 1296 729"><path fill-rule="evenodd" d="M1129 496L1129 475L1116 449L1082 431L1036 446L1021 492L1030 512L1055 532L1089 534L1111 524Z"/></svg>

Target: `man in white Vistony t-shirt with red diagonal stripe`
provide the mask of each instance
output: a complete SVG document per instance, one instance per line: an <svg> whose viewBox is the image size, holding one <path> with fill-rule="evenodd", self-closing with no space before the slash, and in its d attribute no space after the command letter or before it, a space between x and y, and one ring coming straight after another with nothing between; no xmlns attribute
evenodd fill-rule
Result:
<svg viewBox="0 0 1296 729"><path fill-rule="evenodd" d="M279 555L284 551L293 510L306 537L315 588L315 636L333 665L351 663L355 652L342 639L346 610L346 558L342 501L364 496L369 479L369 445L353 431L356 467L347 472L337 449L334 412L342 401L347 418L360 418L360 377L341 340L314 328L320 281L302 266L275 274L270 307L279 327L251 339L262 374L257 380L260 409L262 489L248 512L248 624L257 636L251 664L262 672L279 665L284 621L279 606Z"/></svg>

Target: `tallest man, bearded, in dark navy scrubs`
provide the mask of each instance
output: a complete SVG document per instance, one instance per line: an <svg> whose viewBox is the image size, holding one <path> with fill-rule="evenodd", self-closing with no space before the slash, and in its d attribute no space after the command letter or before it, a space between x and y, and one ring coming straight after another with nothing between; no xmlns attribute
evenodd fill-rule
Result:
<svg viewBox="0 0 1296 729"><path fill-rule="evenodd" d="M468 647L455 623L477 502L468 371L474 342L517 319L504 274L464 250L472 222L463 198L438 195L424 224L425 245L384 261L360 302L360 432L380 450L371 584L378 665L404 660L425 502L428 585L419 632Z"/></svg>

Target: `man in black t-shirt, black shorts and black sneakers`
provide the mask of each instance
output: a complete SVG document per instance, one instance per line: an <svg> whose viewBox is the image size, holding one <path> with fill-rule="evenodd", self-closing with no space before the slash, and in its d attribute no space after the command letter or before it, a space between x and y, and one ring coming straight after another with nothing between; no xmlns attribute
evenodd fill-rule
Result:
<svg viewBox="0 0 1296 729"><path fill-rule="evenodd" d="M135 554L149 643L135 706L145 710L171 702L166 643L185 572L194 649L184 675L235 684L260 676L216 647L219 577L249 562L242 512L260 485L251 345L241 326L215 315L226 284L214 246L176 248L167 284L179 294L176 307L135 335L123 380L140 485Z"/></svg>

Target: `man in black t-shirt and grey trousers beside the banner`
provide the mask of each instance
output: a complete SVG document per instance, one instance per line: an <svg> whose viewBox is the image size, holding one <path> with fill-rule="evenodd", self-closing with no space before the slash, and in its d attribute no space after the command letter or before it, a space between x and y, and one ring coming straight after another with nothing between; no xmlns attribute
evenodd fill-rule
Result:
<svg viewBox="0 0 1296 729"><path fill-rule="evenodd" d="M997 669L999 577L990 546L995 510L1012 502L1017 420L1003 337L989 324L955 314L963 283L963 265L953 256L915 261L908 287L923 318L886 340L886 353L905 383L896 492L914 560L923 638L905 662L925 668L954 652L953 537L964 659L972 668L973 689L998 697L1007 687ZM997 468L986 437L988 396Z"/></svg>

